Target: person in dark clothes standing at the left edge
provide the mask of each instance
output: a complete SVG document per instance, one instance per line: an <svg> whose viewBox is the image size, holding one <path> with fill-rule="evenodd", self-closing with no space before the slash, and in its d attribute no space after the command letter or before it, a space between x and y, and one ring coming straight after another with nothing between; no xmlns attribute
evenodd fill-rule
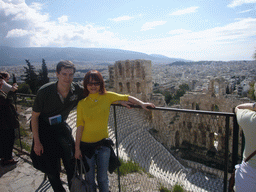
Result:
<svg viewBox="0 0 256 192"><path fill-rule="evenodd" d="M4 80L0 75L2 88ZM11 104L10 99L7 98L7 94L0 90L0 158L1 165L14 165L18 161L15 161L12 157L12 150L15 139L15 120L16 111Z"/></svg>

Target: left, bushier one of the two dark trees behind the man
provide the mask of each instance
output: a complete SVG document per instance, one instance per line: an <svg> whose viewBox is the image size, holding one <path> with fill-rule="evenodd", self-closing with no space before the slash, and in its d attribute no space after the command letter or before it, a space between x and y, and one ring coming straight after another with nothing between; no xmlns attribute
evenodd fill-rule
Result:
<svg viewBox="0 0 256 192"><path fill-rule="evenodd" d="M26 71L25 71L25 75L22 75L22 77L24 77L24 81L26 82L26 84L29 85L32 93L36 94L37 85L38 85L38 76L34 71L35 67L30 64L29 60L26 59L25 61L28 67L24 67Z"/></svg>

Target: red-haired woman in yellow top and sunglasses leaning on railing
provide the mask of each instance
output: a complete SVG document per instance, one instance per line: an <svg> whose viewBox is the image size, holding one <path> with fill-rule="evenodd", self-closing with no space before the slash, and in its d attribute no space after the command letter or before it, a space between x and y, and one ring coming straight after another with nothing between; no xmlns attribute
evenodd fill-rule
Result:
<svg viewBox="0 0 256 192"><path fill-rule="evenodd" d="M108 117L110 105L115 101L129 101L141 105L143 109L154 108L152 103L144 103L139 99L105 90L102 75L89 71L84 77L84 96L77 105L77 132L75 158L85 157L90 167L88 172L90 187L96 191L95 165L97 165L97 181L100 192L108 192L108 165L110 142L108 136Z"/></svg>

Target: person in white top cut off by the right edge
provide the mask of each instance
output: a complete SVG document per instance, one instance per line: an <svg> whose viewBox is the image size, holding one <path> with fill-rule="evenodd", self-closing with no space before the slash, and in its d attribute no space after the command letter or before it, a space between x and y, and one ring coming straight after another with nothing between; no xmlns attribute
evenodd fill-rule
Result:
<svg viewBox="0 0 256 192"><path fill-rule="evenodd" d="M256 106L255 103L240 104L235 108L237 122L245 136L243 162L236 165L235 191L253 192L256 189L256 156L244 160L256 150Z"/></svg>

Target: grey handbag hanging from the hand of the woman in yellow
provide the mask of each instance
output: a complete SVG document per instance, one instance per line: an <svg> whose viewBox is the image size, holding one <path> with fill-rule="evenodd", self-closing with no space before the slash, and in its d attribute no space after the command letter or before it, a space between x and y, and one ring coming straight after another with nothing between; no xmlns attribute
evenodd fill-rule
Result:
<svg viewBox="0 0 256 192"><path fill-rule="evenodd" d="M71 180L70 192L91 192L86 169L82 158L80 158L80 169L78 168L78 160L76 159L75 171Z"/></svg>

